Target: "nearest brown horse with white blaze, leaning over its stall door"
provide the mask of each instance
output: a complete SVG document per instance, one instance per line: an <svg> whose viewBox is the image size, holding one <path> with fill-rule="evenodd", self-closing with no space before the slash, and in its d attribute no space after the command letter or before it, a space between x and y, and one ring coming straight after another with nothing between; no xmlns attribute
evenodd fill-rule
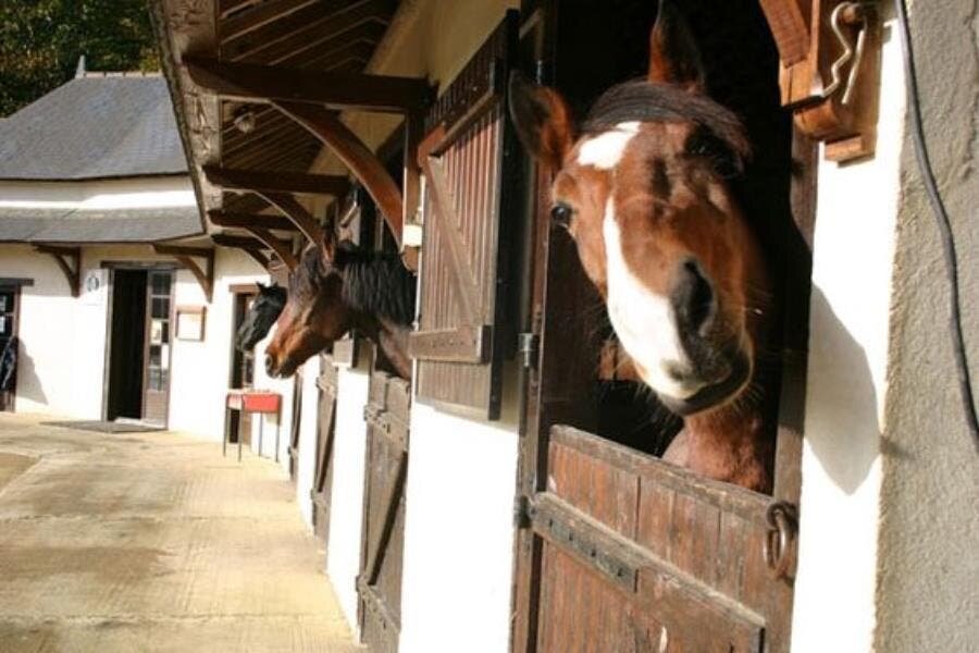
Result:
<svg viewBox="0 0 979 653"><path fill-rule="evenodd" d="M552 220L574 238L634 378L684 419L664 459L765 491L756 372L769 281L729 185L749 146L705 95L699 52L668 0L649 46L647 77L606 91L582 125L555 90L516 76L511 115L555 172Z"/></svg>

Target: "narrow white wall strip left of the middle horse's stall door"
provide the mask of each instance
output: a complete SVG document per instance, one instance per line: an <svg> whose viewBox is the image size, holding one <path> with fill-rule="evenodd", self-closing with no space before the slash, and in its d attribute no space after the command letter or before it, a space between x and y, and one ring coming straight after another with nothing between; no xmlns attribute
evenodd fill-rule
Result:
<svg viewBox="0 0 979 653"><path fill-rule="evenodd" d="M367 356L361 356L365 359ZM333 484L330 490L330 538L326 571L344 616L357 629L357 575L363 531L363 475L370 375L364 367L340 368L337 374L336 432L333 441Z"/></svg>

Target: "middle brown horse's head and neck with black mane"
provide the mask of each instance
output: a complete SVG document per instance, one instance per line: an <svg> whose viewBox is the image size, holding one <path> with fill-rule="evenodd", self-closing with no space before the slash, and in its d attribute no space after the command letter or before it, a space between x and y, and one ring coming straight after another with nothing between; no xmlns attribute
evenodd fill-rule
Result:
<svg viewBox="0 0 979 653"><path fill-rule="evenodd" d="M288 301L265 349L271 377L288 377L351 329L373 340L389 367L410 374L405 343L414 318L414 275L396 255L309 247L289 274Z"/></svg>

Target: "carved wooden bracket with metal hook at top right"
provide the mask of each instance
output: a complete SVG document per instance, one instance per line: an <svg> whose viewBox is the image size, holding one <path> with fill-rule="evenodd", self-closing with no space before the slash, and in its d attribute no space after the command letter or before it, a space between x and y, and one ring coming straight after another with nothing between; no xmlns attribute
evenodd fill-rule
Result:
<svg viewBox="0 0 979 653"><path fill-rule="evenodd" d="M873 3L760 0L779 49L782 104L826 157L873 153L880 82L880 19Z"/></svg>

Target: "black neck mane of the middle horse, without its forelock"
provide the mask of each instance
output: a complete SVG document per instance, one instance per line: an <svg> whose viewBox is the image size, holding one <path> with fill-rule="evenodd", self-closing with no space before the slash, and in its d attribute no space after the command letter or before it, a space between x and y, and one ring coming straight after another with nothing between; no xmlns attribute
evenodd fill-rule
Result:
<svg viewBox="0 0 979 653"><path fill-rule="evenodd" d="M416 276L393 254L345 252L344 300L399 324L414 320Z"/></svg>

